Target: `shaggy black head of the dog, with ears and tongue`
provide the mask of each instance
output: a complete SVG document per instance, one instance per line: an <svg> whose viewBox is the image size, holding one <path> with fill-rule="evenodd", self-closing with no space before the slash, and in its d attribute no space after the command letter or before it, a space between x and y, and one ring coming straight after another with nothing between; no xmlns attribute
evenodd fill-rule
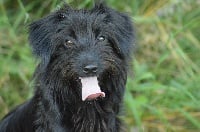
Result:
<svg viewBox="0 0 200 132"><path fill-rule="evenodd" d="M57 81L62 89L73 87L73 94L84 101L108 97L114 86L105 85L112 78L125 83L132 23L102 4L90 10L66 7L52 13L30 25L29 40L41 59L40 72L45 73L47 85Z"/></svg>

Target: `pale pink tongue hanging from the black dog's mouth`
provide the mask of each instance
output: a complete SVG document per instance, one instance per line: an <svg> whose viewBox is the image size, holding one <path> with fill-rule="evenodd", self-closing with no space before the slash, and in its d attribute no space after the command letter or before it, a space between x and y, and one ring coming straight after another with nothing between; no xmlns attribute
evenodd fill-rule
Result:
<svg viewBox="0 0 200 132"><path fill-rule="evenodd" d="M80 78L82 83L82 100L92 100L97 97L105 97L105 93L101 91L97 77Z"/></svg>

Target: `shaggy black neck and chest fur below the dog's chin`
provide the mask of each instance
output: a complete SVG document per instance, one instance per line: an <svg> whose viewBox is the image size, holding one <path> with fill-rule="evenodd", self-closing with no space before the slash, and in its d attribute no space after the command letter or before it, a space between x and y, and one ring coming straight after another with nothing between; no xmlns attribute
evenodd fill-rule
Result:
<svg viewBox="0 0 200 132"><path fill-rule="evenodd" d="M73 132L119 131L120 121L117 115L123 98L126 78L122 79L121 77L120 79L115 79L116 80L112 78L112 80L104 82L105 86L103 87L108 89L107 92L109 94L102 100L93 101L77 101L77 98L73 98L72 96L69 98L68 94L72 95L74 91L71 91L72 93L63 91L65 90L63 89L64 84L59 79L54 79L54 81L57 82L55 86L50 85L51 83L49 82L48 86L42 85L45 84L44 81L42 81L43 83L41 83L39 89L43 92L38 92L38 94L41 96L43 102L41 102L39 106L40 112L37 114L37 118L39 118L38 121L41 121L38 123L43 124L43 126L63 126L64 128L70 128ZM68 88L70 89L69 86ZM49 91L57 93L47 94L46 92ZM47 97L47 95L51 97ZM49 122L44 123L42 122L43 120L49 120ZM59 124L54 124L55 120Z"/></svg>

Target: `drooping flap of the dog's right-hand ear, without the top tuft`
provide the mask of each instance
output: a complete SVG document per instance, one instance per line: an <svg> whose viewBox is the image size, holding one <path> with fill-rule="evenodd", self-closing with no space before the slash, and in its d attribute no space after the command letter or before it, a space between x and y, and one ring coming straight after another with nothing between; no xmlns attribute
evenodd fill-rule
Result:
<svg viewBox="0 0 200 132"><path fill-rule="evenodd" d="M134 29L131 18L123 13L110 10L108 21L112 25L114 34L113 44L117 54L123 58L130 58L134 47Z"/></svg>

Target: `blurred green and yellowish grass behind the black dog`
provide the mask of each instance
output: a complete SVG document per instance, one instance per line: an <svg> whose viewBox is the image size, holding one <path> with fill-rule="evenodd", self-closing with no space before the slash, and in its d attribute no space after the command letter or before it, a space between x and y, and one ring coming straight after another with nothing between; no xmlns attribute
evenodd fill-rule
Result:
<svg viewBox="0 0 200 132"><path fill-rule="evenodd" d="M82 8L92 0L68 0ZM106 0L128 12L137 32L133 75L125 95L130 132L200 131L200 1ZM59 0L0 0L0 117L33 93L37 61L27 25L56 10Z"/></svg>

